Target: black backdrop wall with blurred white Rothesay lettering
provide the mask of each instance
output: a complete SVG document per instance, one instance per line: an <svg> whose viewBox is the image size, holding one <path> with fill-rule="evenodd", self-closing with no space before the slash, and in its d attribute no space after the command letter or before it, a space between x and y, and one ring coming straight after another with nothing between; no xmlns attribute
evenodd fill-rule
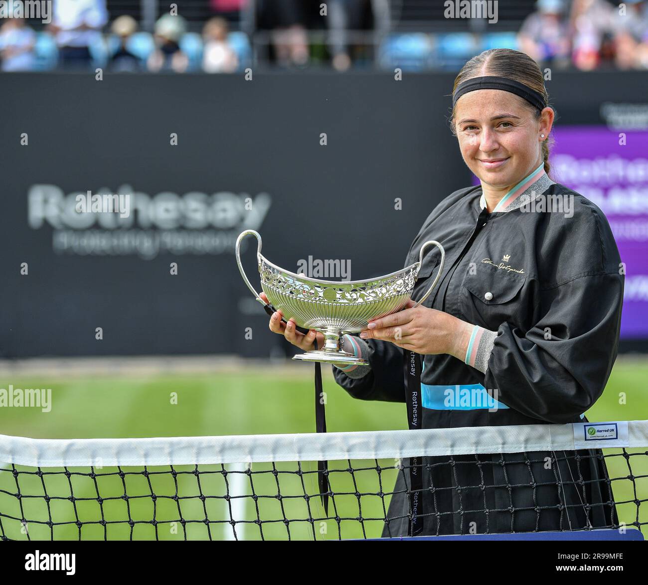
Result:
<svg viewBox="0 0 648 585"><path fill-rule="evenodd" d="M238 273L238 233L257 229L288 270L309 256L347 260L351 279L400 268L434 206L470 185L453 80L0 76L0 355L268 355L280 340ZM548 88L557 124L597 124L601 102L645 100L645 74ZM76 214L87 191L130 194L133 211Z"/></svg>

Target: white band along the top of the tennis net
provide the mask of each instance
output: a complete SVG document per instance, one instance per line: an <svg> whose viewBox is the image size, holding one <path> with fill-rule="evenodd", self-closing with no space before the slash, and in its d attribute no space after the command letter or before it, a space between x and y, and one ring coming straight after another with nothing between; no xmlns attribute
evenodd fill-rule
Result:
<svg viewBox="0 0 648 585"><path fill-rule="evenodd" d="M615 429L588 437L591 426ZM579 439L583 439L582 441ZM648 446L648 421L537 424L452 429L156 437L30 439L0 435L0 462L32 467L156 466L385 459L470 453Z"/></svg>

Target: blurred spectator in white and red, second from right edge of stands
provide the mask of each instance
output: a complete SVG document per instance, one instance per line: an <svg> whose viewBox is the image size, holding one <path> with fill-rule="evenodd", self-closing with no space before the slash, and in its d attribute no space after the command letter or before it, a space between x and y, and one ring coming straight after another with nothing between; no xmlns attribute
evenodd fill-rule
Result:
<svg viewBox="0 0 648 585"><path fill-rule="evenodd" d="M573 0L570 15L572 62L583 71L596 69L607 53L614 8L605 0Z"/></svg>

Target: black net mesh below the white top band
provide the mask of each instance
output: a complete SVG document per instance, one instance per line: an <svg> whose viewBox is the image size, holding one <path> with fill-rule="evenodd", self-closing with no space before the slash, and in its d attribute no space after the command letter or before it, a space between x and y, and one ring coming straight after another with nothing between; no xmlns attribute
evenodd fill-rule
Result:
<svg viewBox="0 0 648 585"><path fill-rule="evenodd" d="M34 468L0 464L3 540L334 540L640 529L648 452L524 452L327 462ZM410 489L421 474L422 487ZM416 484L415 484L416 485Z"/></svg>

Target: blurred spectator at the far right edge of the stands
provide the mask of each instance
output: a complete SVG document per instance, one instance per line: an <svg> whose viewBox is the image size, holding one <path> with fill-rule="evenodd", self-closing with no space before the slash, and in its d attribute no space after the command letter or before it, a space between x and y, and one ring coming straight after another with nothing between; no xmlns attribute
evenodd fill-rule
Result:
<svg viewBox="0 0 648 585"><path fill-rule="evenodd" d="M614 21L614 54L619 69L648 69L648 2L625 0Z"/></svg>

